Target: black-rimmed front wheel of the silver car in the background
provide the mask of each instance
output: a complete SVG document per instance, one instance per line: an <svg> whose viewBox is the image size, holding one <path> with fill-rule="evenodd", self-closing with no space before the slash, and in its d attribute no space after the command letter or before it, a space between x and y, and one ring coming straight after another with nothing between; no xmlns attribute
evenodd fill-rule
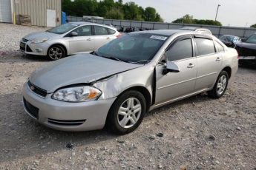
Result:
<svg viewBox="0 0 256 170"><path fill-rule="evenodd" d="M60 45L53 45L47 51L47 57L50 60L59 60L60 58L64 58L66 56L66 52L64 48Z"/></svg>

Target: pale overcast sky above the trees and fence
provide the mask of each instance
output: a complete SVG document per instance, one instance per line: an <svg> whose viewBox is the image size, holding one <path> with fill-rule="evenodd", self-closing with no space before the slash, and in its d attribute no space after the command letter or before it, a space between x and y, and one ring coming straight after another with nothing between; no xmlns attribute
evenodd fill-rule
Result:
<svg viewBox="0 0 256 170"><path fill-rule="evenodd" d="M197 19L214 20L220 4L217 21L224 26L249 27L256 24L256 0L123 0L134 1L142 7L154 7L165 22L186 14Z"/></svg>

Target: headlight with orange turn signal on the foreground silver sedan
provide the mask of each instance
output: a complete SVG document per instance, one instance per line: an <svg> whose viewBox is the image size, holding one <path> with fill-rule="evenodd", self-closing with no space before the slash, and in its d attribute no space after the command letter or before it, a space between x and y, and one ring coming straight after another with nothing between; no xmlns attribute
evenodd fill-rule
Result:
<svg viewBox="0 0 256 170"><path fill-rule="evenodd" d="M93 86L73 86L59 89L51 98L58 101L82 102L96 101L102 92Z"/></svg>

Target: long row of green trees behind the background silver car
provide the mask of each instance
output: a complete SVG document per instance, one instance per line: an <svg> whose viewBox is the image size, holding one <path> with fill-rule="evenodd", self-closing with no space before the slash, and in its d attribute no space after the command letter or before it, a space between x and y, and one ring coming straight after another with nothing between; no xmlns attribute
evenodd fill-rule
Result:
<svg viewBox="0 0 256 170"><path fill-rule="evenodd" d="M132 1L123 4L122 0L62 0L62 10L67 16L102 16L111 19L163 21L154 7L147 7L144 10Z"/></svg>

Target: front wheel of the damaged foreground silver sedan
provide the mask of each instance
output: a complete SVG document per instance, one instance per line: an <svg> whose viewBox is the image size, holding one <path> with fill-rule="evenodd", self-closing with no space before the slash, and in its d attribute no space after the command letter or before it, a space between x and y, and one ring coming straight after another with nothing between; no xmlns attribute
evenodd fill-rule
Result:
<svg viewBox="0 0 256 170"><path fill-rule="evenodd" d="M128 134L140 126L145 111L145 98L140 92L134 90L124 92L112 105L107 126L116 134Z"/></svg>

